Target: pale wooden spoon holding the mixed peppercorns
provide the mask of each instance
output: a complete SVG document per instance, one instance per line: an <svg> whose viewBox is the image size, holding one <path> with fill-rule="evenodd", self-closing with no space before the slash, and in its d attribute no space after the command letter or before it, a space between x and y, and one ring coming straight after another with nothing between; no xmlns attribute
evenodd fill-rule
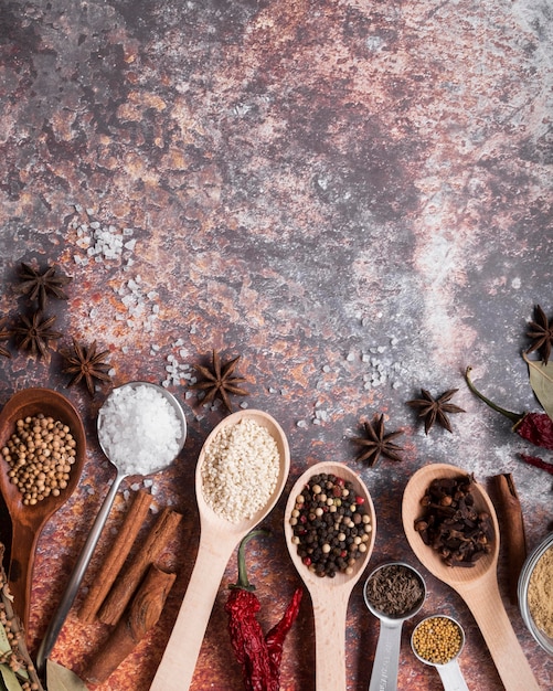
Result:
<svg viewBox="0 0 553 691"><path fill-rule="evenodd" d="M353 483L355 492L365 500L366 511L371 518L371 539L366 543L366 552L357 560L352 574L337 573L333 578L317 576L304 564L293 543L293 529L289 522L296 497L301 495L305 486L313 475L332 474ZM308 468L294 485L284 519L286 544L291 561L301 580L306 584L313 607L315 619L315 653L316 685L320 691L345 691L345 617L348 603L353 586L361 577L374 548L376 536L376 515L374 506L361 478L339 463L323 461Z"/></svg>

